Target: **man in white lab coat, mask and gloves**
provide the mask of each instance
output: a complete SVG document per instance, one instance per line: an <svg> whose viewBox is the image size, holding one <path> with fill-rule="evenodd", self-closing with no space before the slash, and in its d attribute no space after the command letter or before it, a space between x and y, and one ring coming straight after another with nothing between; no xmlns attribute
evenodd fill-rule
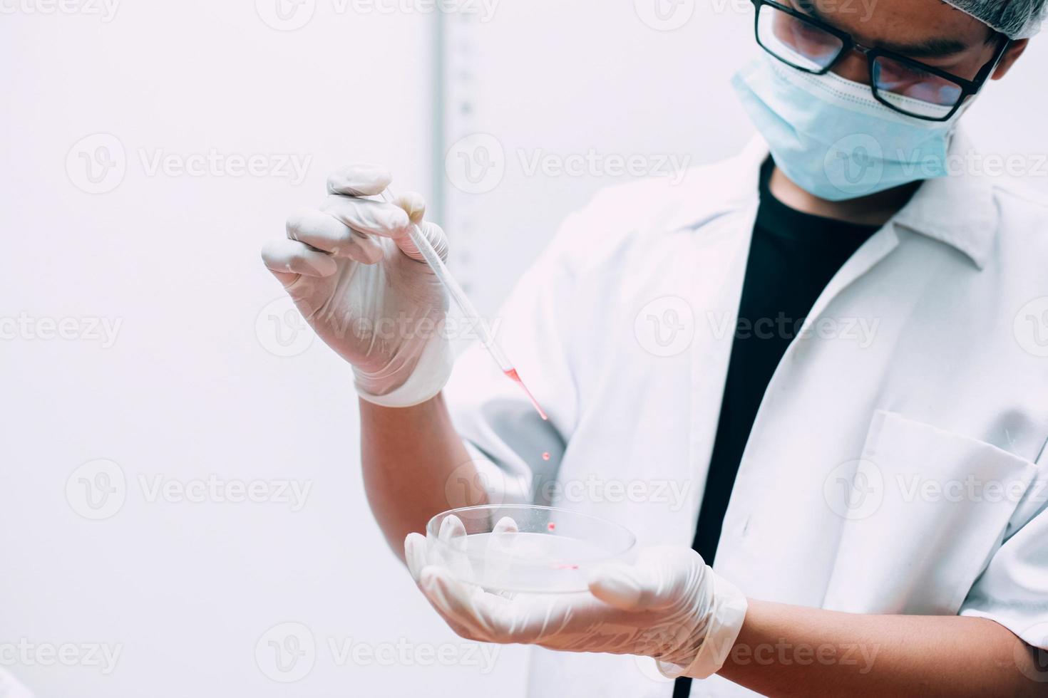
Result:
<svg viewBox="0 0 1048 698"><path fill-rule="evenodd" d="M1048 207L956 131L1044 4L755 0L766 55L735 85L762 138L598 196L502 313L548 422L480 350L445 401L422 202L366 198L389 175L336 173L264 250L353 364L391 545L456 632L544 648L530 695L670 695L619 655L676 696L1048 695ZM589 593L468 588L413 532L484 498L642 549Z"/></svg>

